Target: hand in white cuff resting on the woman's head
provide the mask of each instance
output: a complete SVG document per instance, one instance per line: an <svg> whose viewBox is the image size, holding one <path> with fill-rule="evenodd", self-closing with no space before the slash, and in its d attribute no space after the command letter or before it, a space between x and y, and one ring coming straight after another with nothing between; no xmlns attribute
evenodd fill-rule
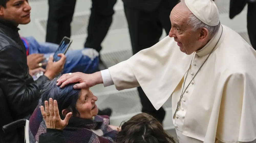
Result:
<svg viewBox="0 0 256 143"><path fill-rule="evenodd" d="M64 74L57 80L57 85L61 85L60 88L65 87L68 84L76 83L74 85L74 89L82 89L82 88L90 88L96 84L103 83L102 76L100 72L96 72L93 74L84 74L84 73L72 73L72 74Z"/></svg>

